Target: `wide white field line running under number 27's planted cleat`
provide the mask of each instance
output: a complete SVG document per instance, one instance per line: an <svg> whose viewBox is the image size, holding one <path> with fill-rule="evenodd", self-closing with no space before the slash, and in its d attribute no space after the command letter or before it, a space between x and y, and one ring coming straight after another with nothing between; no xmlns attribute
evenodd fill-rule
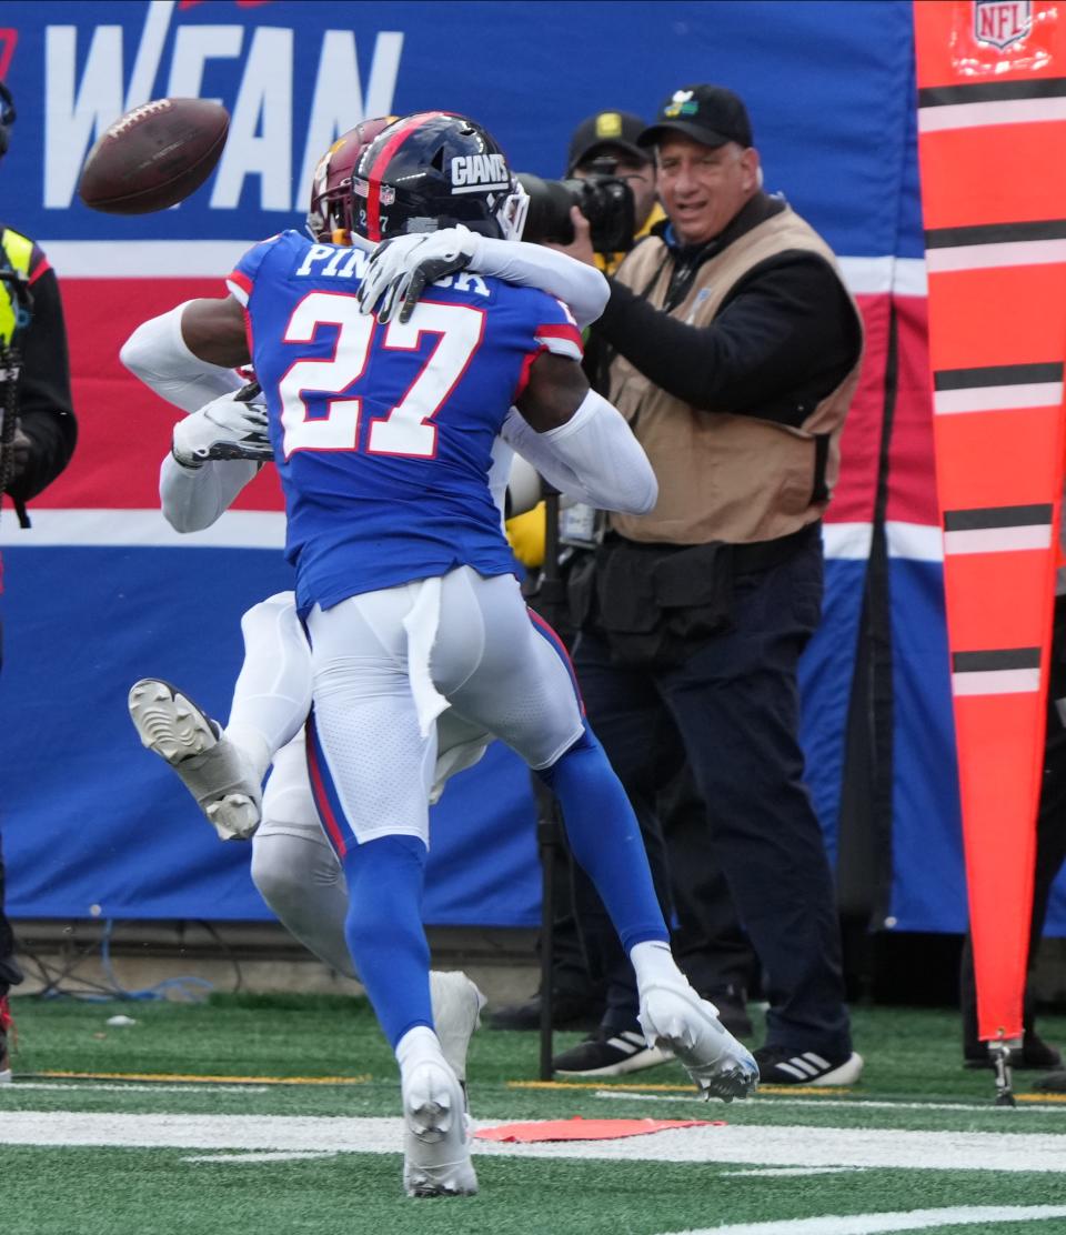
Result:
<svg viewBox="0 0 1066 1235"><path fill-rule="evenodd" d="M495 1124L479 1121L476 1126ZM5 1112L0 1144L136 1149L329 1151L393 1153L399 1119L278 1115L127 1115ZM1046 1132L915 1132L898 1129L684 1128L614 1141L500 1144L474 1141L477 1153L525 1158L703 1162L708 1165L870 1167L919 1171L1066 1173L1066 1135Z"/></svg>

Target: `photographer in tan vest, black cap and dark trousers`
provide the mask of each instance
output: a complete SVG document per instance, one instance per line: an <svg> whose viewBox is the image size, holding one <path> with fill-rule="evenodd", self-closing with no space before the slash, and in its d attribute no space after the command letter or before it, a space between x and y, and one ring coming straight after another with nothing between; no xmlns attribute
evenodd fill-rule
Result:
<svg viewBox="0 0 1066 1235"><path fill-rule="evenodd" d="M609 350L606 389L652 461L660 498L648 515L611 516L571 578L574 662L661 888L657 798L683 758L693 769L707 844L767 974L763 1082L847 1084L862 1061L803 784L797 666L820 620L820 517L861 320L824 241L762 191L735 94L676 91L639 144L656 149L667 219L610 280L593 338ZM568 251L594 262L582 238ZM556 1070L626 1071L642 1050L636 1011L616 953L600 1029Z"/></svg>

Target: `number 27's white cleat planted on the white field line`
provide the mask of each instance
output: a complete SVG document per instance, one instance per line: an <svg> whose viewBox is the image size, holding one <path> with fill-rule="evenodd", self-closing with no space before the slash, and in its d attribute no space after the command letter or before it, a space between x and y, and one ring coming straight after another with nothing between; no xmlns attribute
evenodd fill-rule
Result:
<svg viewBox="0 0 1066 1235"><path fill-rule="evenodd" d="M473 1197L478 1177L471 1162L466 1099L447 1063L427 1060L415 1068L404 1094L404 1191L409 1197Z"/></svg>

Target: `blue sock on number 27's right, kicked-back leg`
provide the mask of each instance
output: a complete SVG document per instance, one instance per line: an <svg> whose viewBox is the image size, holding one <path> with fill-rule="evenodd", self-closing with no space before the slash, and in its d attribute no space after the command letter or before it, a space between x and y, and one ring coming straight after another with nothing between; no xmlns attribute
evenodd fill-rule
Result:
<svg viewBox="0 0 1066 1235"><path fill-rule="evenodd" d="M537 774L558 799L573 856L595 884L625 951L647 940L668 940L640 824L588 725Z"/></svg>

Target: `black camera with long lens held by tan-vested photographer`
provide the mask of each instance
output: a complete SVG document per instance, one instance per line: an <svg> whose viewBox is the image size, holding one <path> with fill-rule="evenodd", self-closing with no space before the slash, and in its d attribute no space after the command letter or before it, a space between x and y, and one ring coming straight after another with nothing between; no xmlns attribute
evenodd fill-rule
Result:
<svg viewBox="0 0 1066 1235"><path fill-rule="evenodd" d="M632 248L636 211L632 189L621 177L594 173L583 180L542 180L520 172L518 179L530 199L523 240L569 245L573 240L569 209L577 206L589 221L597 253L624 253Z"/></svg>

